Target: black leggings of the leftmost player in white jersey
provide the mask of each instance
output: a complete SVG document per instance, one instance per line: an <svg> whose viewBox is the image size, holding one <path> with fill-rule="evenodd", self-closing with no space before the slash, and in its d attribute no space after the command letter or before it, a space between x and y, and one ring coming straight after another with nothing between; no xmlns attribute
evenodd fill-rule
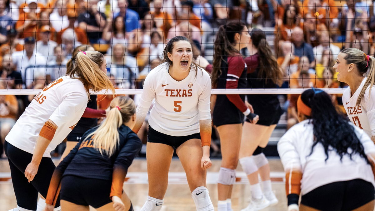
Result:
<svg viewBox="0 0 375 211"><path fill-rule="evenodd" d="M38 192L43 197L47 196L49 181L51 181L53 171L56 168L55 164L51 158L42 157L38 172L33 181L29 183L25 177L25 170L31 162L33 154L18 149L7 141L4 143L4 150L9 161L17 205L24 209L36 210ZM60 206L60 199L57 199L55 207L58 206Z"/></svg>

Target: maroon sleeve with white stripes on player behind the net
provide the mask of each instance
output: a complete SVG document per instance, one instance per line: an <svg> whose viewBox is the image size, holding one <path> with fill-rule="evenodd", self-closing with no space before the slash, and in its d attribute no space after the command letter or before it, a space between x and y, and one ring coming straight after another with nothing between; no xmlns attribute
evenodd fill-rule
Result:
<svg viewBox="0 0 375 211"><path fill-rule="evenodd" d="M238 80L242 72L245 69L245 62L243 61L242 57L235 56L235 57L228 57L228 73L226 74L226 89L237 89L238 87ZM240 95L226 95L226 97L231 101L234 105L236 105L237 109L241 112L245 112L248 107L245 105L245 102L242 101Z"/></svg>

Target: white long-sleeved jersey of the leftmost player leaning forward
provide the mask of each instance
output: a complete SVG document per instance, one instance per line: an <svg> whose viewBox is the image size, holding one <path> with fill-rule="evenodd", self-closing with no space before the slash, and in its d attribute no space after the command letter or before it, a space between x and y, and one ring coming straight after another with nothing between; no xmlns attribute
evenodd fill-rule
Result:
<svg viewBox="0 0 375 211"><path fill-rule="evenodd" d="M40 130L50 119L57 125L57 130L43 157L51 157L51 151L80 120L88 100L86 89L80 80L69 76L60 77L34 97L5 140L33 154Z"/></svg>

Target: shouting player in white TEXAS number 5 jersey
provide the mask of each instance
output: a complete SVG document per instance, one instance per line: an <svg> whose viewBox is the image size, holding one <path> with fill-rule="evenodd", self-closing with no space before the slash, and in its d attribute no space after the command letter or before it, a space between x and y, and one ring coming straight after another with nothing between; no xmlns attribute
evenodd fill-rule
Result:
<svg viewBox="0 0 375 211"><path fill-rule="evenodd" d="M138 133L151 102L148 119L148 197L141 211L160 210L168 186L173 149L184 167L196 210L211 211L206 169L211 167L210 75L192 62L192 43L175 36L166 44L163 63L144 81L133 128Z"/></svg>

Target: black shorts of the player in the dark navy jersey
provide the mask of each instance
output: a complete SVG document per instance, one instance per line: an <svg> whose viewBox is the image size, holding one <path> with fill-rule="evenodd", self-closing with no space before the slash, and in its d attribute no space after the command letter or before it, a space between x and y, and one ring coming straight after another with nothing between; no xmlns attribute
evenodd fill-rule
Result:
<svg viewBox="0 0 375 211"><path fill-rule="evenodd" d="M99 208L111 203L111 180L66 175L61 180L60 199Z"/></svg>

